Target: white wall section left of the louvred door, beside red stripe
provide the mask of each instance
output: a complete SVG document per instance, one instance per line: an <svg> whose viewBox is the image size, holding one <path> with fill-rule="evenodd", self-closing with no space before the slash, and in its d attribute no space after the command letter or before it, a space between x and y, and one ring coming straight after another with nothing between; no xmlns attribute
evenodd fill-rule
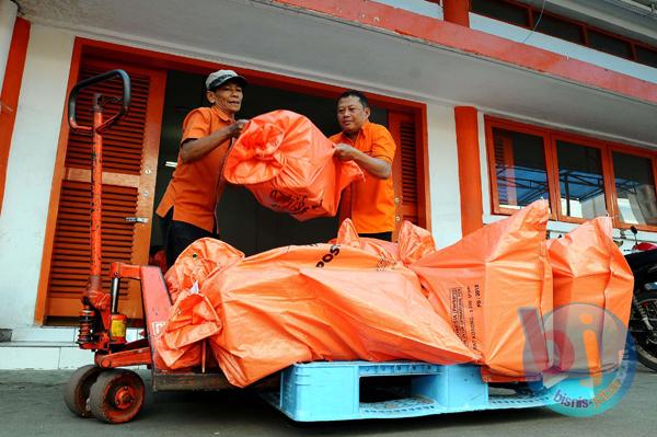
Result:
<svg viewBox="0 0 657 437"><path fill-rule="evenodd" d="M0 327L33 324L72 47L32 26L0 216Z"/></svg>

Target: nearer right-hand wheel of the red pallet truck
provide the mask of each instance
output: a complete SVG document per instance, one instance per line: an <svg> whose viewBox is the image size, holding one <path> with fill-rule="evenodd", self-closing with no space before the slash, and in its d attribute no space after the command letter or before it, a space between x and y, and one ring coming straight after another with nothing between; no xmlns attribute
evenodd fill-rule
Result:
<svg viewBox="0 0 657 437"><path fill-rule="evenodd" d="M110 424L131 421L143 405L143 381L131 370L113 369L99 376L89 393L95 418Z"/></svg>

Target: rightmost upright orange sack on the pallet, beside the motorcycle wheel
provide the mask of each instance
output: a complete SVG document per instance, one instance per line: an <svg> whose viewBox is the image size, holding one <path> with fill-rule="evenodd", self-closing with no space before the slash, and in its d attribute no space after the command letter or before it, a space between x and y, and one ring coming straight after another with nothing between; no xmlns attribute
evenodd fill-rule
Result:
<svg viewBox="0 0 657 437"><path fill-rule="evenodd" d="M549 241L556 370L599 373L622 358L634 277L612 230L599 217Z"/></svg>

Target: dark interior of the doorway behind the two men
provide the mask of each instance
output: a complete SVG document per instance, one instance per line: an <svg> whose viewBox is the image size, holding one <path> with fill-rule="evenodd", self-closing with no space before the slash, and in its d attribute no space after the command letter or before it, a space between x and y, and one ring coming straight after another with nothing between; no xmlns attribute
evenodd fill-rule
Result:
<svg viewBox="0 0 657 437"><path fill-rule="evenodd" d="M247 78L249 79L249 78ZM155 208L164 194L177 160L181 127L187 113L208 105L205 97L205 77L169 71L162 116L160 158L155 186ZM244 92L240 118L275 111L289 110L309 117L326 136L339 130L332 99L295 93L276 88L249 85ZM372 107L370 120L388 125L388 111ZM325 242L334 238L338 222L335 217L299 222L289 215L277 214L261 206L242 186L229 186L217 209L221 240L246 255L288 244ZM159 218L153 217L151 245L162 245Z"/></svg>

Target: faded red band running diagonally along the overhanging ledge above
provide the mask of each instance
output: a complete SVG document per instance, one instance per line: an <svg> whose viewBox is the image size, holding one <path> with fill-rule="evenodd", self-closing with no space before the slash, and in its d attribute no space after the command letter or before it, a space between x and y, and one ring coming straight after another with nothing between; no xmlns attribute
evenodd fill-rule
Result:
<svg viewBox="0 0 657 437"><path fill-rule="evenodd" d="M419 15L374 1L275 0L278 3L321 12L400 35L484 56L592 88L657 103L657 84L527 46L485 32Z"/></svg>

